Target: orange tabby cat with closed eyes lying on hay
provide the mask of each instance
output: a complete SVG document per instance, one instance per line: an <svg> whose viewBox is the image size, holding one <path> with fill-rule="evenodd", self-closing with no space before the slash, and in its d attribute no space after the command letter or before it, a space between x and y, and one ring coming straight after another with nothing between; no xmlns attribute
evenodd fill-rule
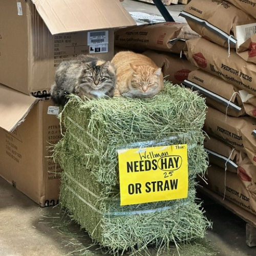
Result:
<svg viewBox="0 0 256 256"><path fill-rule="evenodd" d="M114 56L111 63L116 68L114 96L148 98L163 90L161 68L147 56L121 51Z"/></svg>

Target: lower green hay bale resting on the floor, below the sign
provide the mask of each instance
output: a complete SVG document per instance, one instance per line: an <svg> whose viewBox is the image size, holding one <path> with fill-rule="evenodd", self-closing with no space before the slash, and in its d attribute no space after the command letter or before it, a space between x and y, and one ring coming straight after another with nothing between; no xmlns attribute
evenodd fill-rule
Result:
<svg viewBox="0 0 256 256"><path fill-rule="evenodd" d="M72 176L70 170L75 170ZM83 168L70 159L66 166L66 175L62 175L60 201L62 205L68 206L73 214L72 218L102 246L118 251L152 243L156 246L161 243L166 245L169 241L182 242L204 236L207 220L199 205L194 203L193 180L189 182L186 199L120 206L119 198L104 196L105 186L95 182L91 172L79 170ZM82 183L91 193L77 185L76 181ZM93 210L92 206L97 210Z"/></svg>

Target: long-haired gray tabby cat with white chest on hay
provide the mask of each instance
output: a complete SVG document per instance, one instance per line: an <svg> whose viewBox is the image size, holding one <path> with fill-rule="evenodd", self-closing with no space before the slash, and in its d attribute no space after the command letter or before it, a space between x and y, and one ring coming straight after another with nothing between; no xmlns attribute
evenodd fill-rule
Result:
<svg viewBox="0 0 256 256"><path fill-rule="evenodd" d="M69 94L81 99L113 97L115 86L116 70L110 61L78 55L76 59L62 61L56 69L51 96L54 103L63 106Z"/></svg>

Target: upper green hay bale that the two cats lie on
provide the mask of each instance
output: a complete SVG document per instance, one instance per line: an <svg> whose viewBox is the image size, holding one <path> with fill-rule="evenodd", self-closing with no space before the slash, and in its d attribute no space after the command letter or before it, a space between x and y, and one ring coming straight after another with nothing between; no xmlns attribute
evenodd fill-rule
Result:
<svg viewBox="0 0 256 256"><path fill-rule="evenodd" d="M198 144L193 147L193 154L204 158L201 128L205 110L204 98L169 82L165 82L161 94L150 99L116 97L83 102L71 95L60 114L68 131L55 147L55 156L60 163L63 151L80 157L84 168L91 169L98 182L112 185L118 184L116 150L136 147L135 143L138 147ZM200 164L199 159L195 161ZM197 169L201 172L204 167ZM195 177L197 169L190 169L190 174Z"/></svg>

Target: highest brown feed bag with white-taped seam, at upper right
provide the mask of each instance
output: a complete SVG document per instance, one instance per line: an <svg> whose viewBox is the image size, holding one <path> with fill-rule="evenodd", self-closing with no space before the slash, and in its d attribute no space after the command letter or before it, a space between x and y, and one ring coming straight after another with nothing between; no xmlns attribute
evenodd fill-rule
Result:
<svg viewBox="0 0 256 256"><path fill-rule="evenodd" d="M218 0L192 0L180 16L202 37L226 48L239 48L256 22L256 18L235 5ZM243 32L241 25L246 26L247 31Z"/></svg>

